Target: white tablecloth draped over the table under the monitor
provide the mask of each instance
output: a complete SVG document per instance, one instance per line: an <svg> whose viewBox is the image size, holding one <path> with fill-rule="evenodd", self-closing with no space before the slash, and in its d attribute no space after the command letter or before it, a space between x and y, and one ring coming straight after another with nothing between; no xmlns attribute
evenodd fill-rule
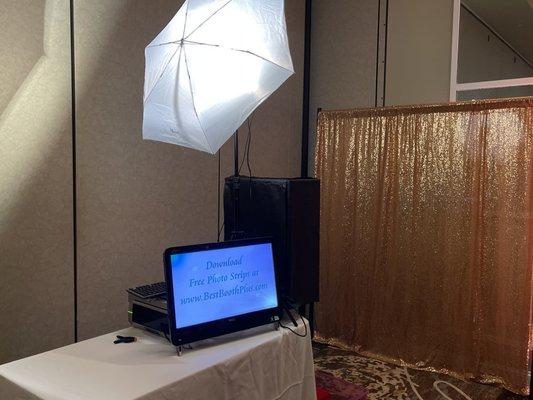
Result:
<svg viewBox="0 0 533 400"><path fill-rule="evenodd" d="M138 341L114 345L117 334ZM0 366L0 399L36 398L313 400L311 339L266 326L178 357L165 339L128 328Z"/></svg>

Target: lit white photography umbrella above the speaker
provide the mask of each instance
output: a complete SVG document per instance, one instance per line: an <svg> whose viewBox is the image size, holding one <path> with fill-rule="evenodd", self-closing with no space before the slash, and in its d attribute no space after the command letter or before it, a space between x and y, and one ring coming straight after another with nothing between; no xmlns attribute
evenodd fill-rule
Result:
<svg viewBox="0 0 533 400"><path fill-rule="evenodd" d="M211 154L294 73L283 0L187 0L145 55L143 138Z"/></svg>

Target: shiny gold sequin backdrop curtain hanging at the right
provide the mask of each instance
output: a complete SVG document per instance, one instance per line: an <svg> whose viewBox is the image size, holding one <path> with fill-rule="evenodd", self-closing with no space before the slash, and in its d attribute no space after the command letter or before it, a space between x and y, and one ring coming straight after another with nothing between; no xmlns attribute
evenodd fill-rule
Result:
<svg viewBox="0 0 533 400"><path fill-rule="evenodd" d="M322 339L528 391L533 99L323 111Z"/></svg>

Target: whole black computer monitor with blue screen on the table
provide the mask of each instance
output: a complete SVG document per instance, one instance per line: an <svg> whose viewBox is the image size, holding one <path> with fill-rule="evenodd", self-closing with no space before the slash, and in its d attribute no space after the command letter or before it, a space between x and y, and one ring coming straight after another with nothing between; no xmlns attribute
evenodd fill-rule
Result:
<svg viewBox="0 0 533 400"><path fill-rule="evenodd" d="M279 320L271 239L174 247L164 258L175 346Z"/></svg>

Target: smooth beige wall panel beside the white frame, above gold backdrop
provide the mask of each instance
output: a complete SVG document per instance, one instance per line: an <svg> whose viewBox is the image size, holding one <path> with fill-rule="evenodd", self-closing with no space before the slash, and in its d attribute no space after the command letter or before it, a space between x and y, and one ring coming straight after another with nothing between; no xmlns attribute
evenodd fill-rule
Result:
<svg viewBox="0 0 533 400"><path fill-rule="evenodd" d="M386 105L450 99L453 0L390 0Z"/></svg>

